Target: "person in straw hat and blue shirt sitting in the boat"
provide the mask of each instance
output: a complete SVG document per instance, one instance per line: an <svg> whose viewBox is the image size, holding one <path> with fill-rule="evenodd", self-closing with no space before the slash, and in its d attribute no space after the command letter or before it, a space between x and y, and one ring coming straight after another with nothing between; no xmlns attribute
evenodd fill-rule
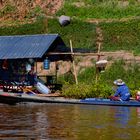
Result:
<svg viewBox="0 0 140 140"><path fill-rule="evenodd" d="M121 79L118 79L113 83L117 86L117 89L114 96L110 96L110 99L114 101L129 101L131 94L125 82L123 82Z"/></svg>

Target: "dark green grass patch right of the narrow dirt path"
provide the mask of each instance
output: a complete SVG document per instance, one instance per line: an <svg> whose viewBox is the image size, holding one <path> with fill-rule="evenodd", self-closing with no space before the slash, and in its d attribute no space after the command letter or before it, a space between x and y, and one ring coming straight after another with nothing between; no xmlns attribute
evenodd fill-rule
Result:
<svg viewBox="0 0 140 140"><path fill-rule="evenodd" d="M103 50L128 50L140 54L140 19L128 22L101 23Z"/></svg>

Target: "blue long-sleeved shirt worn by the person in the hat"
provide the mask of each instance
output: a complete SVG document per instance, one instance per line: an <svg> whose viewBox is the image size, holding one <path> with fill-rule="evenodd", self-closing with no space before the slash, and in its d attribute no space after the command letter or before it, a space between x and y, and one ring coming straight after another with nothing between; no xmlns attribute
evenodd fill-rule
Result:
<svg viewBox="0 0 140 140"><path fill-rule="evenodd" d="M130 99L130 91L129 88L124 84L121 86L118 86L116 93L114 96L120 96L121 100L128 101Z"/></svg>

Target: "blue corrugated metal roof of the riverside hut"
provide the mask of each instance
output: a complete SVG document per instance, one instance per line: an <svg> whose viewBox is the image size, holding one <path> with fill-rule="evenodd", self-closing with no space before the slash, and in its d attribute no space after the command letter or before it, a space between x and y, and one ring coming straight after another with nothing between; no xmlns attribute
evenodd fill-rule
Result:
<svg viewBox="0 0 140 140"><path fill-rule="evenodd" d="M0 59L41 58L57 38L58 34L0 36Z"/></svg>

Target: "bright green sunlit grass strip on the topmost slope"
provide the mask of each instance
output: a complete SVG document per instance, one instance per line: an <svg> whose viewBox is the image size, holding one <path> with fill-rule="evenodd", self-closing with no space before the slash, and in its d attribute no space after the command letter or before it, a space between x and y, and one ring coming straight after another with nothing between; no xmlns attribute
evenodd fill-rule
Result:
<svg viewBox="0 0 140 140"><path fill-rule="evenodd" d="M65 0L64 7L57 13L57 15L62 14L80 19L128 18L140 15L140 2L136 0L129 0L129 3L119 0Z"/></svg>

